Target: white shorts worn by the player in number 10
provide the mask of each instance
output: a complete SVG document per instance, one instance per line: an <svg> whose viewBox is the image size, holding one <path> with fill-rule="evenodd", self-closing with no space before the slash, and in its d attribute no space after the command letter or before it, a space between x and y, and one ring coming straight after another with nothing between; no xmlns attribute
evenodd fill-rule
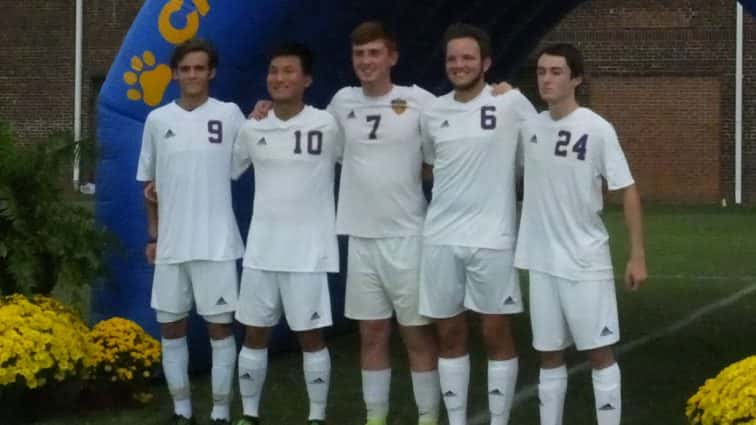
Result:
<svg viewBox="0 0 756 425"><path fill-rule="evenodd" d="M293 331L331 326L331 296L326 272L278 272L245 267L236 320L268 328L281 314Z"/></svg>

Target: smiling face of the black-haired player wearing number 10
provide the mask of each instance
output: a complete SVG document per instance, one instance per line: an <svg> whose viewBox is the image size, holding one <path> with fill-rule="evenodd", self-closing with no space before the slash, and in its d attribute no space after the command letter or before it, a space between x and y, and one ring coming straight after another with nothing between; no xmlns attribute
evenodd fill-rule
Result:
<svg viewBox="0 0 756 425"><path fill-rule="evenodd" d="M301 101L312 77L302 69L298 56L277 56L268 66L268 93L274 102Z"/></svg>

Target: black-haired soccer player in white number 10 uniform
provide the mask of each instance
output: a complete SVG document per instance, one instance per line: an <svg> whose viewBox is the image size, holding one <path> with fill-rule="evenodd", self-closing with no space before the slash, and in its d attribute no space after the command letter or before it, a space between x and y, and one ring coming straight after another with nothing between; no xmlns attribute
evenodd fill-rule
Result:
<svg viewBox="0 0 756 425"><path fill-rule="evenodd" d="M236 312L246 326L238 425L259 423L268 340L282 312L302 348L307 423L325 424L331 359L321 329L332 324L327 273L339 271L333 185L343 136L328 112L304 104L312 67L312 54L301 44L273 52L267 77L272 113L244 124L234 150L235 176L250 164L255 174Z"/></svg>

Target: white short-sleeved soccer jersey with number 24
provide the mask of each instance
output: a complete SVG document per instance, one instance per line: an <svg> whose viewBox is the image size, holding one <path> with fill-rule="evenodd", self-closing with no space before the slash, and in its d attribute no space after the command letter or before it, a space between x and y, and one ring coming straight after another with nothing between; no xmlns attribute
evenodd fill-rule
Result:
<svg viewBox="0 0 756 425"><path fill-rule="evenodd" d="M609 235L599 213L602 178L616 190L634 183L614 127L587 108L554 121L528 120L525 193L515 266L570 280L612 279Z"/></svg>

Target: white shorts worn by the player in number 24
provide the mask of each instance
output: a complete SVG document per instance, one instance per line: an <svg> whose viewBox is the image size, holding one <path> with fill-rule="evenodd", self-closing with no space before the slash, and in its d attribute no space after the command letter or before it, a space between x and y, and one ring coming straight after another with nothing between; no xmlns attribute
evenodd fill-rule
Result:
<svg viewBox="0 0 756 425"><path fill-rule="evenodd" d="M614 281L574 281L530 272L530 322L533 347L559 351L573 343L578 350L619 341Z"/></svg>

